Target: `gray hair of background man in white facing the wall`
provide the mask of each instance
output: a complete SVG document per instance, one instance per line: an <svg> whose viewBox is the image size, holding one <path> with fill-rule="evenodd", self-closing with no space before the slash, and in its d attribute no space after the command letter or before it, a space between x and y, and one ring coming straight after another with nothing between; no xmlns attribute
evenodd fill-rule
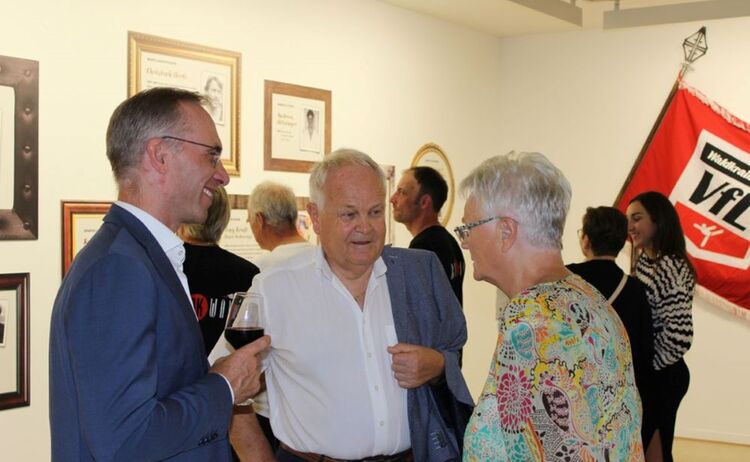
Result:
<svg viewBox="0 0 750 462"><path fill-rule="evenodd" d="M247 200L247 213L253 221L260 213L271 228L279 231L297 229L297 197L292 188L281 183L264 181L256 186Z"/></svg>

